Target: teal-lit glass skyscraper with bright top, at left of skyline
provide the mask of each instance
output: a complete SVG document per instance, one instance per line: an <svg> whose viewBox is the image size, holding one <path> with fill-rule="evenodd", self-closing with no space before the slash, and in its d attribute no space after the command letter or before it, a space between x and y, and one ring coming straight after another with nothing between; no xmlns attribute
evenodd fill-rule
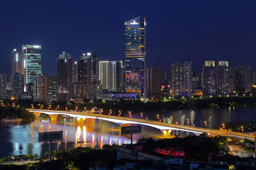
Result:
<svg viewBox="0 0 256 170"><path fill-rule="evenodd" d="M33 78L42 74L41 45L22 45L25 60L26 91L31 91Z"/></svg>

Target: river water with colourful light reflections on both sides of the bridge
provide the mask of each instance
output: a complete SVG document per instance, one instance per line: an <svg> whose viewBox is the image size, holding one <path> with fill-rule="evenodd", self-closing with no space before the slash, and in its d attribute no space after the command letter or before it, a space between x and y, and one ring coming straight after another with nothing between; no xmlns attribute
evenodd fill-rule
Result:
<svg viewBox="0 0 256 170"><path fill-rule="evenodd" d="M129 115L124 114L124 115ZM157 118L159 115L159 119ZM166 123L195 125L208 128L220 127L223 123L241 123L256 120L256 108L222 108L170 111L162 113L132 113L135 118L161 120ZM63 130L63 141L53 142L53 149L69 147L102 147L130 142L129 135L121 135L120 126L105 120L86 119L85 125L76 125L73 119L61 119L57 123L36 120L33 123L0 123L0 157L6 155L43 154L48 151L48 142L38 142L38 132ZM174 135L192 135L189 132L171 132ZM133 135L136 142L142 137L161 138L160 130L143 126L142 134Z"/></svg>

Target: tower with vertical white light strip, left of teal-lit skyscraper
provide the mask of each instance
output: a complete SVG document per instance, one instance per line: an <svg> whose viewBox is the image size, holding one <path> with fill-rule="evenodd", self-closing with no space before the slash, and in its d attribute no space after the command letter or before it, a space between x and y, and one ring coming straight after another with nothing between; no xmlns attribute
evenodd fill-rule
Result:
<svg viewBox="0 0 256 170"><path fill-rule="evenodd" d="M11 52L11 74L19 73L19 74L25 74L24 67L24 56L23 52L17 49L14 49Z"/></svg>

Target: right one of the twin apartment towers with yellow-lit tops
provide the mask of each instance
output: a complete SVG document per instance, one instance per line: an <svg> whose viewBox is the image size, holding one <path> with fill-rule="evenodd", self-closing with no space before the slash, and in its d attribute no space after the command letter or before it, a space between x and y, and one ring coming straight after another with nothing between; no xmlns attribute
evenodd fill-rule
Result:
<svg viewBox="0 0 256 170"><path fill-rule="evenodd" d="M216 67L216 94L228 95L229 68L228 61L219 61Z"/></svg>

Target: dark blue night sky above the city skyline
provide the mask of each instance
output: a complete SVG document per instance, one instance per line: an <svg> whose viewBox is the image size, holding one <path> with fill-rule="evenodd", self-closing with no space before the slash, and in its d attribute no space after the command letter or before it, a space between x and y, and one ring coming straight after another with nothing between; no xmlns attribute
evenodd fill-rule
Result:
<svg viewBox="0 0 256 170"><path fill-rule="evenodd" d="M256 1L0 0L0 73L11 72L11 50L42 45L43 73L56 74L63 51L77 59L124 60L124 21L146 18L147 67L228 60L256 68Z"/></svg>

